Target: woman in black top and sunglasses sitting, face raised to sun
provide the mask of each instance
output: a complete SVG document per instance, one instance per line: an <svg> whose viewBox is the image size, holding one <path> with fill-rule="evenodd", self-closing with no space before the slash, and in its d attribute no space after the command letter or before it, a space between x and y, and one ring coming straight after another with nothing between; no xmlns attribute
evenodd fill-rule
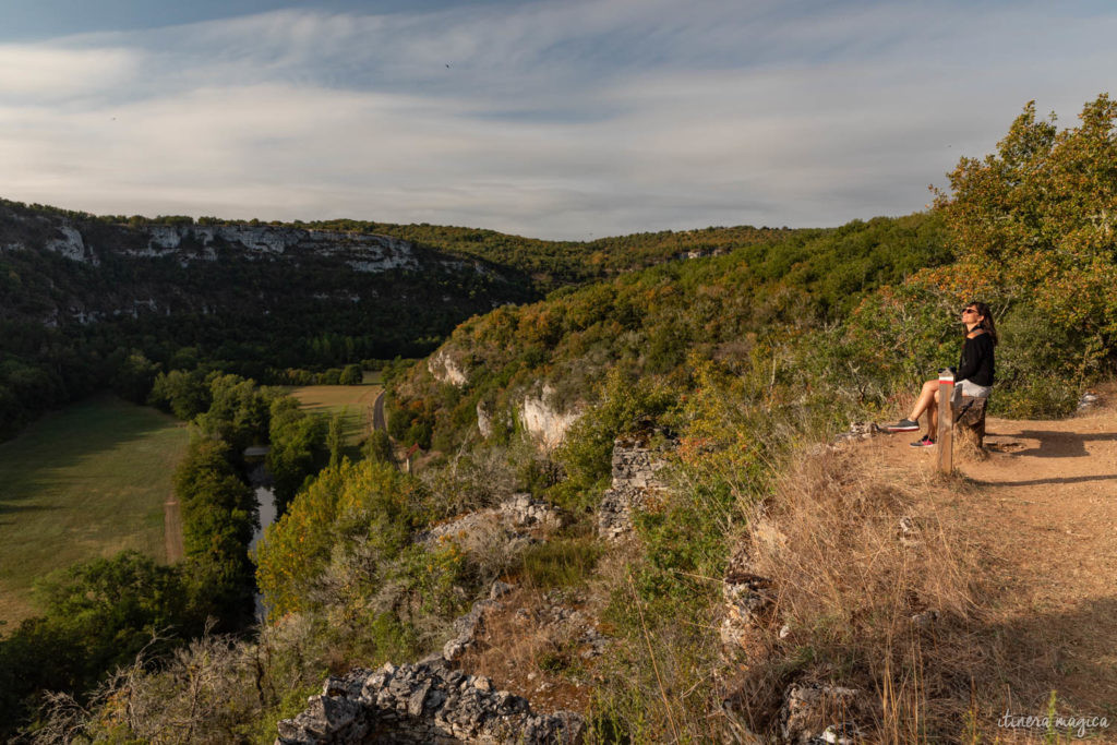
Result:
<svg viewBox="0 0 1117 745"><path fill-rule="evenodd" d="M966 341L962 344L962 360L954 376L955 399L960 395L975 399L989 397L993 385L993 347L996 346L996 328L993 326L993 315L984 303L971 303L962 312L962 323L966 325ZM929 448L935 445L935 432L938 431L938 381L928 380L923 384L919 398L916 399L911 413L888 426L889 432L914 432L919 429L919 417L927 412L927 433L911 443L913 448Z"/></svg>

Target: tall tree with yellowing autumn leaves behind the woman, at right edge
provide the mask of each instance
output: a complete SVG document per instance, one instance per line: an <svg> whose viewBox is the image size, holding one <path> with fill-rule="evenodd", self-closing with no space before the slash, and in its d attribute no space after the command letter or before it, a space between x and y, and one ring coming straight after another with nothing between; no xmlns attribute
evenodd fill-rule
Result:
<svg viewBox="0 0 1117 745"><path fill-rule="evenodd" d="M1006 306L1033 305L1076 329L1078 352L1117 335L1117 102L1086 104L1059 131L1031 102L996 153L964 157L936 206L958 240L960 269L991 279Z"/></svg>

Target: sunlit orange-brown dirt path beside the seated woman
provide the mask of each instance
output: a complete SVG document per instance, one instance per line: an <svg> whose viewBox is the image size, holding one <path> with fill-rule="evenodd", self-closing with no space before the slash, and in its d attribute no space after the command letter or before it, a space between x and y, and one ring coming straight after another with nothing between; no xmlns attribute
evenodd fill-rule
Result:
<svg viewBox="0 0 1117 745"><path fill-rule="evenodd" d="M1021 709L1056 691L1057 708L1108 716L1117 737L1117 389L1062 421L990 418L984 461L945 502L983 555L978 599ZM879 455L936 484L935 450L913 436L875 438ZM960 491L962 494L960 494ZM987 629L986 629L987 630ZM1030 700L1028 700L1030 699Z"/></svg>

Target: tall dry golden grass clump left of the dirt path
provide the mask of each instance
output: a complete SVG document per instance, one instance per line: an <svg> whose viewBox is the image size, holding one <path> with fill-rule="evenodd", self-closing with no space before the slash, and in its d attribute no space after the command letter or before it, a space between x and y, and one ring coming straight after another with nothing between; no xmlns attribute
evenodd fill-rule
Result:
<svg viewBox="0 0 1117 745"><path fill-rule="evenodd" d="M970 631L978 557L941 507L958 486L824 451L800 459L773 499L747 509L731 564L773 588L731 678L751 729L776 727L791 682L823 682L862 691L843 716L867 742L961 736L983 653Z"/></svg>

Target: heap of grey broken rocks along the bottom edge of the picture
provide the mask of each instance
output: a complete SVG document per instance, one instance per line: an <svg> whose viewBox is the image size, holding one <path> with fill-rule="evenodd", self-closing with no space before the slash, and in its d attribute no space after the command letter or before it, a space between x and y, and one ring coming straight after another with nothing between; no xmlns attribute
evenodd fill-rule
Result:
<svg viewBox="0 0 1117 745"><path fill-rule="evenodd" d="M580 743L584 719L536 714L527 699L452 669L441 657L326 680L305 711L279 723L276 745Z"/></svg>

